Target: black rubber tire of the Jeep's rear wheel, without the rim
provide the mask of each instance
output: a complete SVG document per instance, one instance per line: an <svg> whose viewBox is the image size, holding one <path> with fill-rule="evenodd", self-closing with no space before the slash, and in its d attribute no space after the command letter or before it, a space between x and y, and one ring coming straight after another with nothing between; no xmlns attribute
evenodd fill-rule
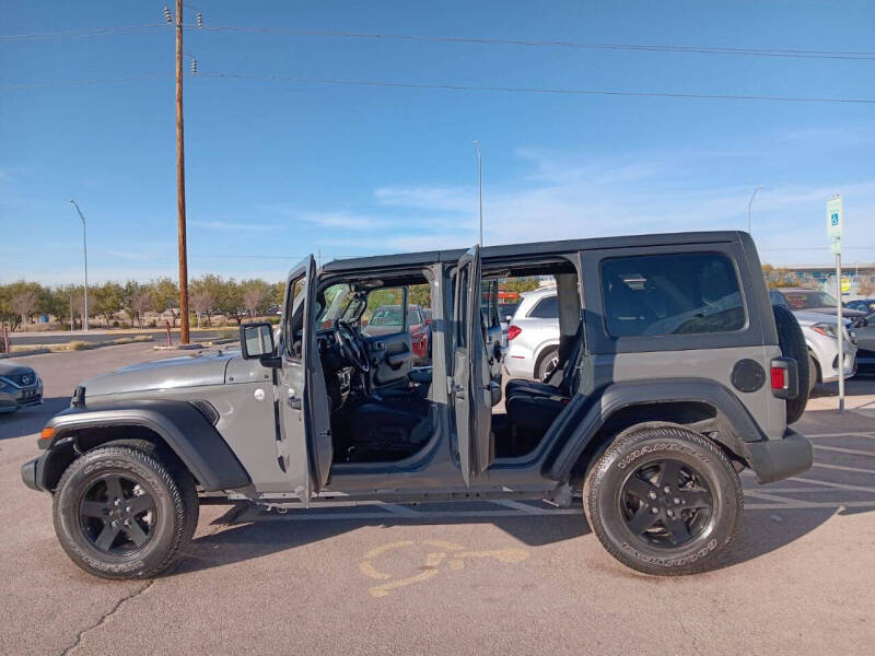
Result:
<svg viewBox="0 0 875 656"><path fill-rule="evenodd" d="M688 542L656 546L630 529L623 515L625 485L642 468L668 460L680 461L685 471L695 470L703 479L711 509L701 532L691 531ZM663 502L670 500L661 496L652 503ZM583 509L598 540L622 564L644 574L677 576L719 565L740 528L744 496L738 475L713 442L676 424L639 424L620 433L590 468ZM660 525L652 530L660 531Z"/></svg>

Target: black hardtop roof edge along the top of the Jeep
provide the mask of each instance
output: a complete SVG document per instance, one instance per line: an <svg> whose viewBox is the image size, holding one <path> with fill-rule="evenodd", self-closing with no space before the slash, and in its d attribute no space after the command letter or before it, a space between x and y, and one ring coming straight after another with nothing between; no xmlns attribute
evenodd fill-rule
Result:
<svg viewBox="0 0 875 656"><path fill-rule="evenodd" d="M744 237L743 237L744 235ZM749 239L747 233L740 231L707 231L660 233L653 235L627 235L619 237L591 237L587 239L561 239L557 242L532 242L528 244L506 244L486 246L480 250L485 260L497 258L516 258L529 255L561 255L575 250L595 250L602 248L635 248L643 246L672 246L681 244L714 244ZM464 248L452 250L423 250L420 253L402 253L398 255L374 255L337 259L326 263L324 271L352 271L357 269L383 269L396 267L425 266L434 262L455 262L464 254Z"/></svg>

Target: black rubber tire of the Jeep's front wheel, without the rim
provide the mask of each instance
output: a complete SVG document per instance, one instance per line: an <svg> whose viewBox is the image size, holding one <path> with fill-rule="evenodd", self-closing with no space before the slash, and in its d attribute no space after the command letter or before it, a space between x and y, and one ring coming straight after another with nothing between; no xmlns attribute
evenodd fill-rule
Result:
<svg viewBox="0 0 875 656"><path fill-rule="evenodd" d="M55 531L70 559L85 572L104 578L148 578L166 571L191 539L198 500L191 475L147 441L119 441L86 452L73 460L55 490ZM102 477L136 481L154 502L149 540L130 553L105 553L81 528L80 502Z"/></svg>

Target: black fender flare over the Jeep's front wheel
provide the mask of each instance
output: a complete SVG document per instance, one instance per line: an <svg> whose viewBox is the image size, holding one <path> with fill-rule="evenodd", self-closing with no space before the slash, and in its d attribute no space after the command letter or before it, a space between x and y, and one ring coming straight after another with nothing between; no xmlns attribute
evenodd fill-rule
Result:
<svg viewBox="0 0 875 656"><path fill-rule="evenodd" d="M46 429L54 429L54 435L40 438L38 445L50 450L89 429L114 426L139 426L158 434L207 492L252 483L219 431L187 401L131 400L69 408L49 420Z"/></svg>

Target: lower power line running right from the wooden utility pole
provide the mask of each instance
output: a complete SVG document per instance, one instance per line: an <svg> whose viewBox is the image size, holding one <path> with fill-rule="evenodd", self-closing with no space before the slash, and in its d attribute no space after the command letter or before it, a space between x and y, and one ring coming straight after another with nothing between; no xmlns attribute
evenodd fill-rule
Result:
<svg viewBox="0 0 875 656"><path fill-rule="evenodd" d="M395 89L425 89L440 91L480 91L547 95L599 95L664 98L697 98L711 101L773 101L782 103L851 103L875 105L872 98L830 98L798 96L762 96L743 94L672 93L660 91L607 91L595 89L548 89L535 86L487 86L479 84L431 84L425 82L395 82L389 80L331 80L325 78L288 78L283 75L254 75L245 73L202 72L199 78L253 80L260 82L287 82L291 84L325 84L332 86L387 86Z"/></svg>

